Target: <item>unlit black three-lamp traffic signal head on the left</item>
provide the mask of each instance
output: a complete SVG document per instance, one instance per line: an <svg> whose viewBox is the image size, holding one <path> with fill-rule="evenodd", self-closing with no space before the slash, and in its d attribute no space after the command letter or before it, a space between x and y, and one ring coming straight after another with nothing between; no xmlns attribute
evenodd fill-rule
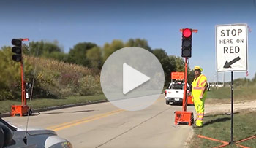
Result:
<svg viewBox="0 0 256 148"><path fill-rule="evenodd" d="M12 47L12 52L15 53L14 55L12 55L12 60L16 62L20 62L22 60L22 50L21 50L22 40L12 39L12 45L14 45L14 47Z"/></svg>

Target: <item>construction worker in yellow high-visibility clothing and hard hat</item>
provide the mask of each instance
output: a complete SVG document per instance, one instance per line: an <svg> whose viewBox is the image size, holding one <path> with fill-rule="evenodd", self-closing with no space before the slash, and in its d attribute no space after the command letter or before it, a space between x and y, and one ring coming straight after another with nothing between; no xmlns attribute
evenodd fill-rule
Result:
<svg viewBox="0 0 256 148"><path fill-rule="evenodd" d="M195 79L192 82L192 101L194 101L197 118L194 127L203 126L203 114L205 112L205 101L207 96L207 78L201 72L203 69L200 66L194 67Z"/></svg>

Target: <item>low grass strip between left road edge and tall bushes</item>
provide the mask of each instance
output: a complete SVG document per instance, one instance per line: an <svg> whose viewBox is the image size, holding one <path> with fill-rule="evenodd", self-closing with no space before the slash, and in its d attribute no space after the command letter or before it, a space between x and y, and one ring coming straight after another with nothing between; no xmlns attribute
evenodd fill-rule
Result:
<svg viewBox="0 0 256 148"><path fill-rule="evenodd" d="M32 109L42 109L50 106L62 106L67 104L80 104L80 103L89 103L99 100L106 100L104 95L98 96L74 96L67 97L63 99L53 99L53 98L38 98L31 101L27 101L27 104L31 106ZM12 105L20 105L21 101L0 101L0 112L10 112Z"/></svg>

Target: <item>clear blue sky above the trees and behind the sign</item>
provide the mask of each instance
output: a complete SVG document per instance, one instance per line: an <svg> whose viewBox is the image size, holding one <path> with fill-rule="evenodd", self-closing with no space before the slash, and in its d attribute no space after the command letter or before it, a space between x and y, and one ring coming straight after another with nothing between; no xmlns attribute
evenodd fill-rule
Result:
<svg viewBox="0 0 256 148"><path fill-rule="evenodd" d="M251 79L256 72L256 4L254 0L138 0L138 1L0 1L0 47L11 46L12 38L30 41L57 40L64 52L78 42L103 46L113 39L146 39L152 49L181 56L181 28L192 34L189 67L203 67L208 82L217 80L215 26L246 23L248 73L234 78ZM223 72L218 74L223 81ZM230 72L225 72L225 81Z"/></svg>

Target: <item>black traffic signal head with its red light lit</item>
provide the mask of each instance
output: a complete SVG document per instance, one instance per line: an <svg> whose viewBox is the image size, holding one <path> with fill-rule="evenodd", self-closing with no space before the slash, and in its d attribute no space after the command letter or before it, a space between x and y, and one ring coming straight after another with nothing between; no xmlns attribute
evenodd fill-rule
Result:
<svg viewBox="0 0 256 148"><path fill-rule="evenodd" d="M191 55L192 55L192 29L185 28L182 30L181 57L190 58Z"/></svg>

